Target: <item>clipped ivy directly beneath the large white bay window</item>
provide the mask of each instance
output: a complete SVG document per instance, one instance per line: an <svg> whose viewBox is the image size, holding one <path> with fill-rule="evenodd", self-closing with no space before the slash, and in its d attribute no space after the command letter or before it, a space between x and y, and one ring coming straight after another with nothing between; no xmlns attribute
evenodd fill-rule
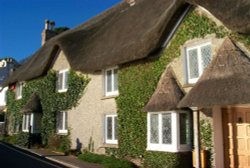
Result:
<svg viewBox="0 0 250 168"><path fill-rule="evenodd" d="M143 165L150 168L192 167L191 156L191 153L146 152Z"/></svg>

